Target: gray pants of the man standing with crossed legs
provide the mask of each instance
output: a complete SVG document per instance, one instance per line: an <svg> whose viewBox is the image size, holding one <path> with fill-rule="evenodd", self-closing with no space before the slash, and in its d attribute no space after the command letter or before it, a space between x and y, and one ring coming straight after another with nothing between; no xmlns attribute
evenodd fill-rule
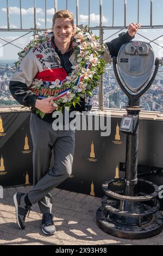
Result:
<svg viewBox="0 0 163 256"><path fill-rule="evenodd" d="M33 141L34 187L28 192L32 204L39 203L42 214L51 213L52 196L49 193L64 181L72 171L75 131L54 131L52 123L35 114L30 117ZM54 166L49 169L54 150Z"/></svg>

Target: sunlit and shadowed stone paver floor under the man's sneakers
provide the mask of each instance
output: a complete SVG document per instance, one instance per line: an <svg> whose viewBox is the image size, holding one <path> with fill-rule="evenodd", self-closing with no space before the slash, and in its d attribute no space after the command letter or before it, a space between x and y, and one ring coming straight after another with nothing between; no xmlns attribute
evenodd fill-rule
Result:
<svg viewBox="0 0 163 256"><path fill-rule="evenodd" d="M15 219L13 195L28 192L27 187L4 189L0 199L1 245L163 245L163 231L152 238L125 240L104 233L96 224L96 211L101 199L85 194L54 188L53 215L57 233L46 236L40 230L41 214L36 205L26 221L26 229L19 229Z"/></svg>

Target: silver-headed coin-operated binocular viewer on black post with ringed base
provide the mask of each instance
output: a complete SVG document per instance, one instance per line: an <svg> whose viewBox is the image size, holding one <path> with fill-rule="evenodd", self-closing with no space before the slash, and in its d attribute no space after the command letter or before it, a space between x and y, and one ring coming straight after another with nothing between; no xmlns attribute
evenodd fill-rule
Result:
<svg viewBox="0 0 163 256"><path fill-rule="evenodd" d="M159 64L162 65L162 59L155 58L152 46L142 41L122 45L113 59L116 80L128 96L127 114L120 125L127 135L126 175L103 184L106 196L97 210L97 224L106 233L125 239L151 237L163 229L158 186L137 179L140 97L152 85ZM121 191L111 190L115 183L121 186Z"/></svg>

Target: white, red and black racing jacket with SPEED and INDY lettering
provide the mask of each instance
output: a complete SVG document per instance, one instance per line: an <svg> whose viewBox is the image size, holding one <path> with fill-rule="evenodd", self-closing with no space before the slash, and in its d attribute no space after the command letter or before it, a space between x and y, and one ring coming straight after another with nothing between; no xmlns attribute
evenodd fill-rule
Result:
<svg viewBox="0 0 163 256"><path fill-rule="evenodd" d="M117 56L122 44L126 44L133 39L128 32L121 33L118 38L113 39L105 44L104 60L109 62L110 56ZM54 45L54 36L39 45L33 51L29 51L22 59L15 74L12 76L9 83L11 95L21 105L32 107L32 112L35 113L35 101L41 97L57 96L64 88L50 89L54 85L54 81L59 79L64 80L71 72L71 67L77 65L75 54L73 52L75 42L70 44L70 49L61 54L59 49ZM34 84L40 86L40 89L35 89ZM70 111L85 111L85 100L81 98L80 105L71 107ZM40 117L40 115L37 115ZM43 120L52 122L52 113L45 114Z"/></svg>

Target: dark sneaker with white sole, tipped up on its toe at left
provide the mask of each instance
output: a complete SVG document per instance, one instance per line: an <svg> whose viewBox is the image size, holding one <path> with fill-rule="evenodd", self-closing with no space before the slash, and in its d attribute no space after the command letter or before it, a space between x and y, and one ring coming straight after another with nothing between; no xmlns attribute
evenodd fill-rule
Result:
<svg viewBox="0 0 163 256"><path fill-rule="evenodd" d="M30 212L30 206L26 205L24 198L26 193L16 193L14 194L14 204L16 208L16 220L18 227L21 229L26 228L25 219L28 212ZM29 213L28 213L29 216Z"/></svg>

